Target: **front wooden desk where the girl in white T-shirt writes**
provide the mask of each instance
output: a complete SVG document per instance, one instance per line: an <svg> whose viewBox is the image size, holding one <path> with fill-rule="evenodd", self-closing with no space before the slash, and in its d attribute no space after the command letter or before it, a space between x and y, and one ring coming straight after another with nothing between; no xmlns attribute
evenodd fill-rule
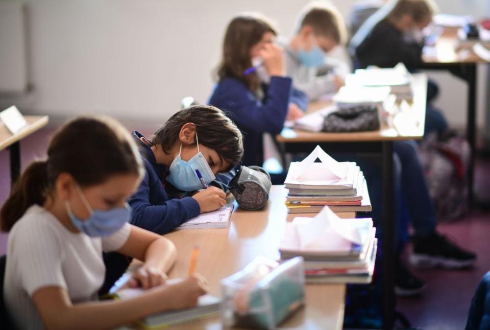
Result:
<svg viewBox="0 0 490 330"><path fill-rule="evenodd" d="M211 293L220 296L219 282L246 266L256 256L277 260L284 226L295 215L288 215L282 185L271 189L266 209L233 212L228 229L183 229L166 234L177 247L177 262L170 277L185 277L191 249L201 246L197 272L208 280ZM313 217L315 214L303 216ZM354 218L354 213L339 214ZM344 321L345 285L306 285L305 307L285 320L281 327L292 329L341 329ZM176 329L220 329L219 317L205 318L173 327Z"/></svg>

